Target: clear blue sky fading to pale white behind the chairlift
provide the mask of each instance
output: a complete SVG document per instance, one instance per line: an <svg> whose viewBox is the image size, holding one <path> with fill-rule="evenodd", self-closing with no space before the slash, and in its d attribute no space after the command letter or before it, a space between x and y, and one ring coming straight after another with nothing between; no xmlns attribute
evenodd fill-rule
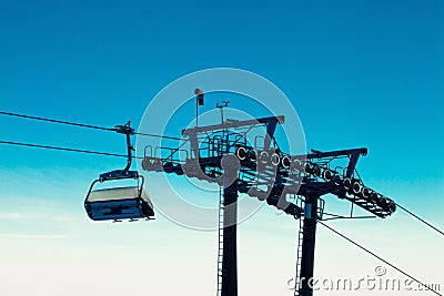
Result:
<svg viewBox="0 0 444 296"><path fill-rule="evenodd" d="M150 100L173 80L206 68L245 69L291 100L309 149L367 146L359 164L364 181L443 228L443 6L437 0L1 1L0 110L103 126L132 120L137 126ZM208 103L202 111L213 108ZM4 116L0 126L0 140L124 152L121 136L100 131ZM1 272L11 278L0 284L4 295L26 295L30 287L36 295L58 295L60 288L79 295L97 283L105 287L95 295L113 295L105 284L118 278L105 273L110 257L134 268L137 278L149 275L159 295L175 294L165 289L171 278L184 285L183 293L199 283L204 284L198 295L214 292L215 233L182 229L161 216L117 227L87 221L82 202L89 183L122 165L105 156L0 145L0 262L11 268ZM332 208L343 205L327 202ZM443 264L442 238L401 212L386 221L334 226L418 277L444 284L433 273ZM294 228L272 210L241 226L245 295L252 289L290 295L284 285L294 265ZM317 242L320 275L365 274L377 263L324 229ZM142 254L143 267L135 254ZM268 285L256 283L262 267L274 275ZM95 272L104 273L97 282ZM13 285L21 273L32 285ZM51 276L59 286L44 284ZM120 280L117 290L131 283Z"/></svg>

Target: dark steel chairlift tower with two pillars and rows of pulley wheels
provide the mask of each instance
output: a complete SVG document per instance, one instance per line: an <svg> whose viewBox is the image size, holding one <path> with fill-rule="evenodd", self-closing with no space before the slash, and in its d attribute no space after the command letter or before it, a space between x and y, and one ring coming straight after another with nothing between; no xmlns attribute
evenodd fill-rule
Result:
<svg viewBox="0 0 444 296"><path fill-rule="evenodd" d="M182 147L147 146L144 171L173 173L218 183L223 190L220 200L218 256L218 295L238 295L236 221L238 195L248 194L300 220L294 295L311 296L309 279L313 277L316 222L323 218L325 194L351 202L372 216L386 217L395 211L392 200L365 186L355 166L366 149L290 155L274 137L284 116L256 120L225 120L221 124L194 126L182 131L189 143L185 159ZM265 133L250 143L248 133L261 127ZM183 146L183 145L181 145ZM168 155L153 155L153 151ZM343 167L333 166L336 160ZM326 213L325 213L326 214ZM332 215L332 214L329 214ZM332 215L331 218L341 218Z"/></svg>

